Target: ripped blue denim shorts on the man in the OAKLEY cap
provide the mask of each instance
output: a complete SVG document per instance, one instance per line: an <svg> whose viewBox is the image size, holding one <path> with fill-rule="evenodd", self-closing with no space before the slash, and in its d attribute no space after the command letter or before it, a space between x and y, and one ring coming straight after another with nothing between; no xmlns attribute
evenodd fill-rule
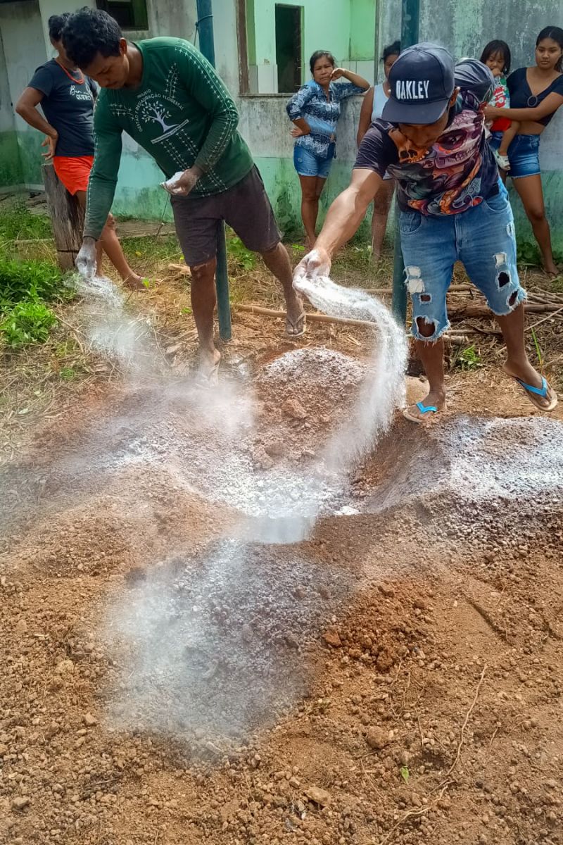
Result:
<svg viewBox="0 0 563 845"><path fill-rule="evenodd" d="M449 328L446 294L453 265L461 261L490 310L505 316L526 298L516 266L514 220L506 188L459 214L429 217L402 211L399 218L405 284L413 302L412 333L437 341ZM431 327L430 335L420 328Z"/></svg>

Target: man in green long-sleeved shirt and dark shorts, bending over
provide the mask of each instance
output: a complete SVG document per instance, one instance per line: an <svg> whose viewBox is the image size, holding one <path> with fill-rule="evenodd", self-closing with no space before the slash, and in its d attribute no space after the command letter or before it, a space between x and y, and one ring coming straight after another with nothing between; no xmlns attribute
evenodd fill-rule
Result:
<svg viewBox="0 0 563 845"><path fill-rule="evenodd" d="M84 8L62 32L68 57L102 88L94 115L95 160L89 178L78 270L95 272L95 241L111 209L127 132L171 180L176 232L192 270L192 308L204 372L219 365L214 346L214 272L219 221L262 254L284 288L286 331L300 335L305 314L292 286L290 258L263 182L237 132L238 112L214 68L188 41L132 44L106 12Z"/></svg>

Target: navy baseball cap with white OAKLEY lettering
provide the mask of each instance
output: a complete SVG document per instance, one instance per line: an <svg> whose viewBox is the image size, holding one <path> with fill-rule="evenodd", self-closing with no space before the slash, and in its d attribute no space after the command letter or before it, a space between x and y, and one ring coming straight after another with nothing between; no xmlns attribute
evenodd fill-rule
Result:
<svg viewBox="0 0 563 845"><path fill-rule="evenodd" d="M453 59L445 47L408 47L391 68L390 95L383 107L383 120L436 123L446 111L455 86Z"/></svg>

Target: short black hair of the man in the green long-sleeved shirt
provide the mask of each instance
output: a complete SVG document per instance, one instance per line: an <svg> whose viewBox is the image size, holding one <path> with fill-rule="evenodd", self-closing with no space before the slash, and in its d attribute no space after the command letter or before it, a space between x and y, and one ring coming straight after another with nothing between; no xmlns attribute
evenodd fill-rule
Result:
<svg viewBox="0 0 563 845"><path fill-rule="evenodd" d="M119 56L122 37L116 20L96 8L78 9L62 30L64 49L78 68L88 68L98 53L105 58Z"/></svg>

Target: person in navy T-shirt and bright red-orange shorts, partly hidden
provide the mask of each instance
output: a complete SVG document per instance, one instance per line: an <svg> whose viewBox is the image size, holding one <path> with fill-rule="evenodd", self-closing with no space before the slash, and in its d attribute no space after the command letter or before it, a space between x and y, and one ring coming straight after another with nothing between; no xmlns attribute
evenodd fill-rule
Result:
<svg viewBox="0 0 563 845"><path fill-rule="evenodd" d="M69 194L84 208L89 172L94 162L95 83L75 68L62 46L62 28L68 12L49 18L49 37L57 57L37 68L30 84L16 103L15 110L35 129L46 135L46 161L52 161L57 177ZM45 117L37 111L37 106ZM98 269L102 250L121 275L127 287L143 290L141 276L134 273L123 254L110 215L97 245Z"/></svg>

